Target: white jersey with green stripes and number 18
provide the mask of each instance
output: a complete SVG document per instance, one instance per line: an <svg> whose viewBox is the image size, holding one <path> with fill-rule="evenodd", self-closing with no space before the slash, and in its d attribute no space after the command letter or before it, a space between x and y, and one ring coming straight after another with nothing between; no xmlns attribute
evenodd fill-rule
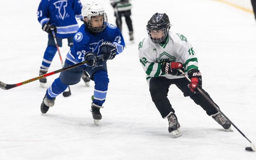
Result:
<svg viewBox="0 0 256 160"><path fill-rule="evenodd" d="M163 76L168 79L184 77L162 72L162 62L182 63L186 74L190 69L198 69L197 57L192 45L184 35L171 31L169 31L164 44L154 43L149 37L144 38L139 43L139 58L140 64L147 74L148 85L152 77Z"/></svg>

